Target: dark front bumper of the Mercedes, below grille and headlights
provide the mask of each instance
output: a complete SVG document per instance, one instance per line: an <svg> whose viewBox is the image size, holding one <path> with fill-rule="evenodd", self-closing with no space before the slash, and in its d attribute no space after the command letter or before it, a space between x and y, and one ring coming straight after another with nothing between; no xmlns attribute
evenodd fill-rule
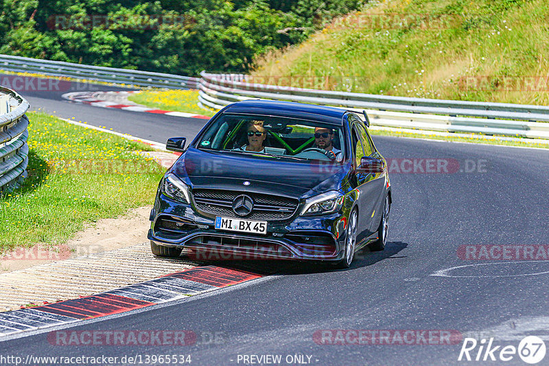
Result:
<svg viewBox="0 0 549 366"><path fill-rule="evenodd" d="M267 234L248 234L216 230L215 217L204 217L189 205L160 196L150 217L148 239L156 245L183 247L191 258L337 261L344 256L347 221L341 212L268 221Z"/></svg>

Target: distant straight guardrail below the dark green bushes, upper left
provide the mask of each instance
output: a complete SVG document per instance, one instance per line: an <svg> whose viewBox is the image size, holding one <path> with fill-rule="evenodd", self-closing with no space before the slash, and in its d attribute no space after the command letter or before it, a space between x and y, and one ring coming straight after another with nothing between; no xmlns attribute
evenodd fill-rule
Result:
<svg viewBox="0 0 549 366"><path fill-rule="evenodd" d="M16 73L65 76L97 82L150 86L153 88L198 88L198 77L115 69L112 67L73 64L71 62L40 60L19 56L0 55L0 70Z"/></svg>

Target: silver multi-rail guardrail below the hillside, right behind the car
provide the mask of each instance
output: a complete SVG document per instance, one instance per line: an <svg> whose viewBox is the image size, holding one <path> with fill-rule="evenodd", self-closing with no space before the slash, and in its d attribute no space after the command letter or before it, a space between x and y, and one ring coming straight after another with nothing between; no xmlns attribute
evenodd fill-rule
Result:
<svg viewBox="0 0 549 366"><path fill-rule="evenodd" d="M417 130L549 138L549 106L346 93L254 84L245 75L200 73L199 102L220 109L246 99L274 99L362 112L372 125Z"/></svg>

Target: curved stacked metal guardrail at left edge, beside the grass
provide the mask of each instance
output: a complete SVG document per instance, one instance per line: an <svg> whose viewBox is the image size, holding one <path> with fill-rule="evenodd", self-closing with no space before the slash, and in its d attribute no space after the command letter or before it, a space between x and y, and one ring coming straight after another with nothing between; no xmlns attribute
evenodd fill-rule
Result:
<svg viewBox="0 0 549 366"><path fill-rule="evenodd" d="M13 90L0 86L0 192L16 188L27 176L29 103Z"/></svg>

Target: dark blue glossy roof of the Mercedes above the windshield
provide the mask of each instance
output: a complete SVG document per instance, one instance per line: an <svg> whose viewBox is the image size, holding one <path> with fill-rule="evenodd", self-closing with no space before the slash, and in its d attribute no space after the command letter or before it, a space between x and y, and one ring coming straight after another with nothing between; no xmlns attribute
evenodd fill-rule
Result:
<svg viewBox="0 0 549 366"><path fill-rule="evenodd" d="M334 107L316 106L314 104L294 103L292 101L271 101L250 99L230 104L224 112L272 115L277 117L292 117L313 121L342 125L342 117L346 110Z"/></svg>

